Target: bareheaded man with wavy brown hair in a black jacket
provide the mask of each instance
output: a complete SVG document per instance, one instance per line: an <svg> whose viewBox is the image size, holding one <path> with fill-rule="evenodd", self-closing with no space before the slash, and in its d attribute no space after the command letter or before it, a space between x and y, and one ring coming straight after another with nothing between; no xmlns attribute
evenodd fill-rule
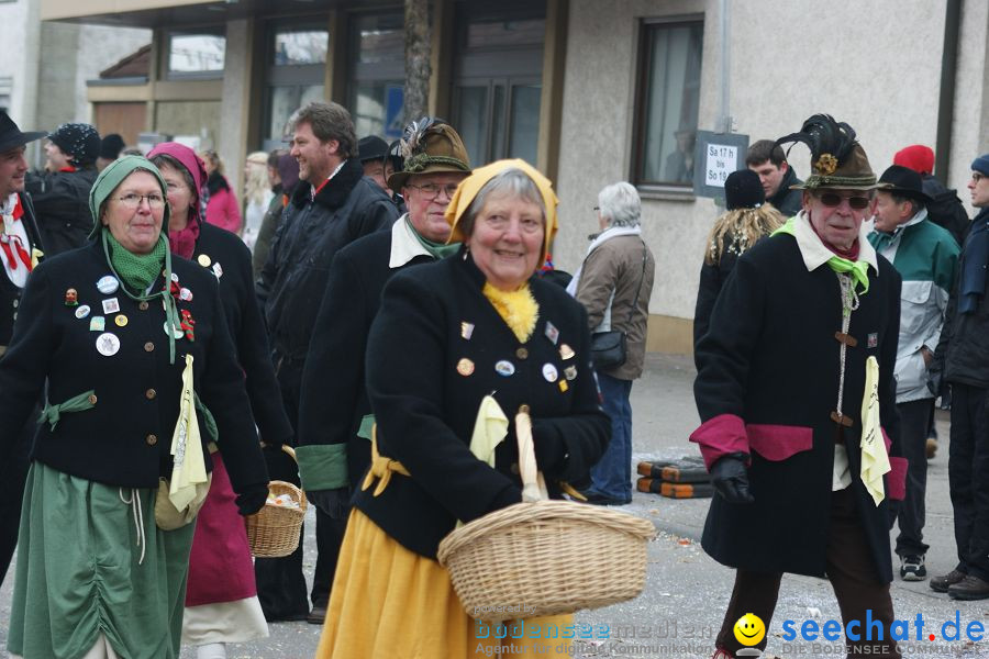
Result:
<svg viewBox="0 0 989 659"><path fill-rule="evenodd" d="M285 409L297 424L302 370L330 264L343 246L391 228L398 211L388 196L364 177L356 158L354 123L343 107L312 102L299 110L291 155L299 163L299 185L271 241L257 295ZM299 482L290 459L281 454L267 457L271 478ZM322 623L320 614L325 615L336 567L334 548L340 546L344 526L316 510L319 559L310 595L314 623ZM301 546L286 558L257 560L255 572L258 599L269 621L307 616Z"/></svg>

